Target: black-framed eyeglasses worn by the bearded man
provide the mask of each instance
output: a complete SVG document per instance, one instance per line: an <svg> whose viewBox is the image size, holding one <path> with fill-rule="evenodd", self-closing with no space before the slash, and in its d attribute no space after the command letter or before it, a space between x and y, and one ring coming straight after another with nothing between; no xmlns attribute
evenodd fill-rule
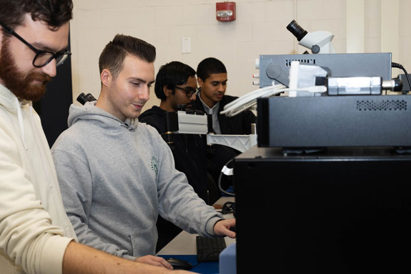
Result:
<svg viewBox="0 0 411 274"><path fill-rule="evenodd" d="M71 52L67 49L64 51L59 51L58 53L53 53L51 51L40 51L33 47L32 44L24 40L21 36L16 34L16 32L12 29L6 27L3 23L0 22L0 25L6 32L16 37L18 40L21 40L21 42L25 43L27 47L36 53L33 59L33 66L36 66L36 68L41 68L42 66L49 64L49 62L53 59L55 59L55 66L60 66L60 64L63 64L64 61L71 55Z"/></svg>

